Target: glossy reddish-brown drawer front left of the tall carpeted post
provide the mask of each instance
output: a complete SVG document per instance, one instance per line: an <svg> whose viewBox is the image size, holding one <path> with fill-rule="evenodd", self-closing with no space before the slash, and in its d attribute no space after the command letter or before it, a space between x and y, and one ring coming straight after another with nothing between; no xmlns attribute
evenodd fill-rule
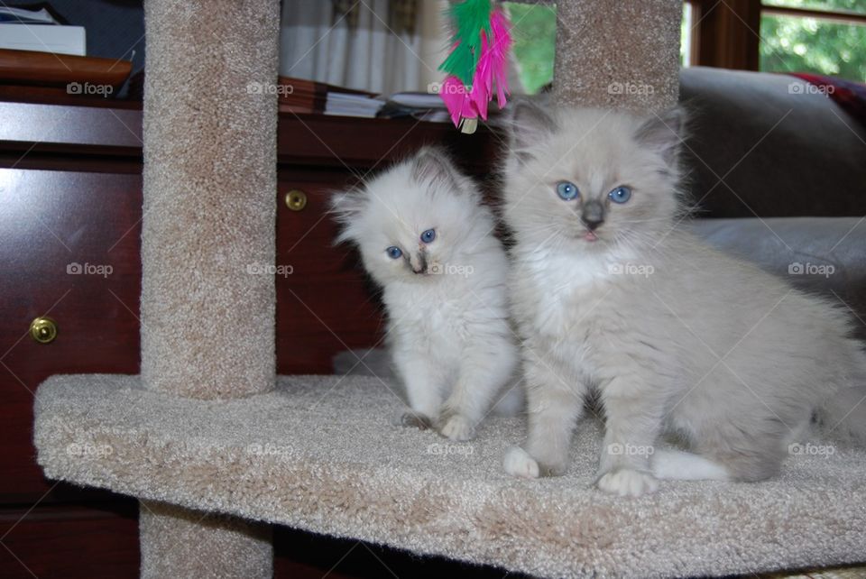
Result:
<svg viewBox="0 0 866 579"><path fill-rule="evenodd" d="M139 370L141 207L138 175L0 169L2 502L34 501L53 484L33 461L41 381ZM29 326L46 315L59 331L39 344ZM76 494L64 487L55 491Z"/></svg>

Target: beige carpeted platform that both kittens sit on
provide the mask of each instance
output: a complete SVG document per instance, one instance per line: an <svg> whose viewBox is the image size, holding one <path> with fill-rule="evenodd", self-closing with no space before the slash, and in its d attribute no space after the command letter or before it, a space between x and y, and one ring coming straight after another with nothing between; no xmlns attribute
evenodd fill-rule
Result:
<svg viewBox="0 0 866 579"><path fill-rule="evenodd" d="M567 476L502 473L522 418L471 443L392 426L370 377L281 377L244 400L182 400L137 376L54 376L37 394L47 476L419 553L546 576L665 577L866 559L866 452L794 455L767 483L663 483L640 499L590 488L601 444L579 427ZM826 443L821 443L826 444Z"/></svg>

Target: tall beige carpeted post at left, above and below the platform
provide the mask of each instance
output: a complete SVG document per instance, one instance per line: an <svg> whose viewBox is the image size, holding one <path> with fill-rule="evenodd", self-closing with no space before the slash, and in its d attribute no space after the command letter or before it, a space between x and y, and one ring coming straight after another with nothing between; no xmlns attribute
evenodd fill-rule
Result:
<svg viewBox="0 0 866 579"><path fill-rule="evenodd" d="M229 399L274 384L278 0L144 3L142 378ZM202 484L207 484L202 481ZM269 528L143 503L143 577L270 577Z"/></svg>

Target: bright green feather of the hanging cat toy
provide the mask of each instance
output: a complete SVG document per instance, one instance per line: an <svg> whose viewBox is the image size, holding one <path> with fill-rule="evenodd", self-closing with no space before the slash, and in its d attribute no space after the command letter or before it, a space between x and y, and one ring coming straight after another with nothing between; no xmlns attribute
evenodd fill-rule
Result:
<svg viewBox="0 0 866 579"><path fill-rule="evenodd" d="M465 0L447 10L454 34L452 46L457 43L439 70L459 78L463 84L472 84L475 67L481 56L481 32L490 38L491 0Z"/></svg>

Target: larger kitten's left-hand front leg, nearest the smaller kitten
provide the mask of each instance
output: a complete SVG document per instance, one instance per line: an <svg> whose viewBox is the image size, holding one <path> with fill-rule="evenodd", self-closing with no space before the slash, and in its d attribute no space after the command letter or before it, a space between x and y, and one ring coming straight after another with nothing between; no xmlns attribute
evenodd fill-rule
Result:
<svg viewBox="0 0 866 579"><path fill-rule="evenodd" d="M585 385L557 372L542 359L524 363L529 406L525 445L505 455L505 472L537 478L566 472L572 431L584 408Z"/></svg>

